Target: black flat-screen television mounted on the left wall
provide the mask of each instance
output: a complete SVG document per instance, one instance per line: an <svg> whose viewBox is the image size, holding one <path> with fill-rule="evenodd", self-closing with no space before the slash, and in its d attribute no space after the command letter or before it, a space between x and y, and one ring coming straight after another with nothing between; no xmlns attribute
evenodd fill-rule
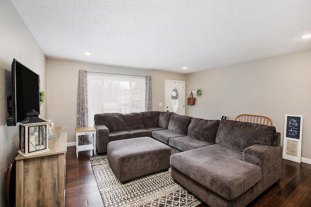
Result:
<svg viewBox="0 0 311 207"><path fill-rule="evenodd" d="M12 62L12 117L8 126L16 126L27 118L26 113L33 109L40 112L40 77L34 71L19 63Z"/></svg>

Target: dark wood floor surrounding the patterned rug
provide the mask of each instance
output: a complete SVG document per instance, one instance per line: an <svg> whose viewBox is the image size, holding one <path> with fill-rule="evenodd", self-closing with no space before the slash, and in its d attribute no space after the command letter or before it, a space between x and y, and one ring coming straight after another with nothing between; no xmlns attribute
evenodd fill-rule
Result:
<svg viewBox="0 0 311 207"><path fill-rule="evenodd" d="M75 146L67 151L66 207L103 207L89 161L92 151L79 153ZM311 207L311 165L283 159L279 183L263 192L248 207ZM201 204L198 207L207 207Z"/></svg>

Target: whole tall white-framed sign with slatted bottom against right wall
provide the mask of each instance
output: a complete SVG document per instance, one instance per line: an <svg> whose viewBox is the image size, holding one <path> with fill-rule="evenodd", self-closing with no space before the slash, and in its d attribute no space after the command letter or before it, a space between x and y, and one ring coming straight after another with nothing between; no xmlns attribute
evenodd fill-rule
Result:
<svg viewBox="0 0 311 207"><path fill-rule="evenodd" d="M302 116L285 115L283 158L301 162Z"/></svg>

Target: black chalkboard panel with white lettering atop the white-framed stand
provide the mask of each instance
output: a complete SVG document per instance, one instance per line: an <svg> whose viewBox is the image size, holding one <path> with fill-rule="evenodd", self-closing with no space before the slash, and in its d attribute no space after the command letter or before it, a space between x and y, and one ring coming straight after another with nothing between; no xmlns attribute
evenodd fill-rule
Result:
<svg viewBox="0 0 311 207"><path fill-rule="evenodd" d="M301 116L286 116L286 137L293 139L300 139L300 130L302 124Z"/></svg>

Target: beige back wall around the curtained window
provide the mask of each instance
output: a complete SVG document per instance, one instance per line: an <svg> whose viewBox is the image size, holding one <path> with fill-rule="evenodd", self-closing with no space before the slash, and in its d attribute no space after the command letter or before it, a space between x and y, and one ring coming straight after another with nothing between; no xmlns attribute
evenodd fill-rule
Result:
<svg viewBox="0 0 311 207"><path fill-rule="evenodd" d="M165 80L186 80L186 75L144 70L138 68L118 67L111 65L89 64L74 61L55 60L48 58L47 103L48 116L55 127L68 128L68 142L75 142L77 113L77 88L79 70L106 72L152 77L152 101L154 111L165 111L164 85ZM162 106L159 106L162 103ZM94 118L94 117L89 117Z"/></svg>

